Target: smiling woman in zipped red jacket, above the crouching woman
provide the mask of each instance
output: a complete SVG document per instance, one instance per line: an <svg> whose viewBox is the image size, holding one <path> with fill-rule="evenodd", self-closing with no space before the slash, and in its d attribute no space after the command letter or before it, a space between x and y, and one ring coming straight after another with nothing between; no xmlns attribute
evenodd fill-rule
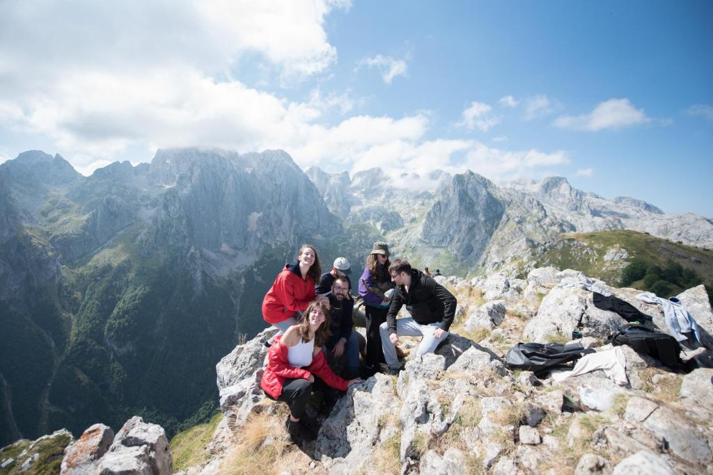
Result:
<svg viewBox="0 0 713 475"><path fill-rule="evenodd" d="M321 275L317 250L314 246L302 244L297 259L277 274L275 282L262 300L262 318L279 328L278 335L297 324L298 312L304 312L314 300L314 283L319 282ZM326 300L324 296L317 299ZM271 342L265 345L270 346Z"/></svg>

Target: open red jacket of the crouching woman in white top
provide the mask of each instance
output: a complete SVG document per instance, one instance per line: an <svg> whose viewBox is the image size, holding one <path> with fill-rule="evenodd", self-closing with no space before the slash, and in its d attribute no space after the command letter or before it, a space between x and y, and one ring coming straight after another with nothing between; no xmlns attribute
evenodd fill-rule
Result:
<svg viewBox="0 0 713 475"><path fill-rule="evenodd" d="M260 386L267 394L277 399L282 394L284 380L306 380L312 374L334 389L347 390L349 383L334 374L332 368L327 365L327 357L324 356L322 350L319 350L317 356L312 357L312 365L309 365L307 370L303 370L301 367L289 365L287 346L283 345L280 340L281 337L276 337L275 343L270 347L270 352L267 354L267 366L265 372L262 373L262 380L260 380Z"/></svg>

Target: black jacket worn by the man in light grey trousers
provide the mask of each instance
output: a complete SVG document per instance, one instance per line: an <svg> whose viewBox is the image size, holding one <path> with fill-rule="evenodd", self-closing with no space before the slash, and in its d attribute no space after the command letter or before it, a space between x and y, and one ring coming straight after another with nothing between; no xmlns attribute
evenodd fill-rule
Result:
<svg viewBox="0 0 713 475"><path fill-rule="evenodd" d="M416 269L411 269L409 292L406 292L404 286L396 286L386 315L389 333L396 333L396 315L404 305L416 323L441 323L441 328L446 331L451 328L456 316L456 298L453 294L434 281L434 278Z"/></svg>

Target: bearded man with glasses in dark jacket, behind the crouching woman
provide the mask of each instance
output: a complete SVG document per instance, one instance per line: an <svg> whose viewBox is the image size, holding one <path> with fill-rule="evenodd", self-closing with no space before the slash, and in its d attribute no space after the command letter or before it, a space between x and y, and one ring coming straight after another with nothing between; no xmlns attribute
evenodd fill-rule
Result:
<svg viewBox="0 0 713 475"><path fill-rule="evenodd" d="M359 374L359 337L364 339L352 329L354 301L349 298L349 281L344 277L335 278L332 291L326 296L329 298L329 330L332 335L324 349L332 353L334 360L344 358L345 377L349 379Z"/></svg>

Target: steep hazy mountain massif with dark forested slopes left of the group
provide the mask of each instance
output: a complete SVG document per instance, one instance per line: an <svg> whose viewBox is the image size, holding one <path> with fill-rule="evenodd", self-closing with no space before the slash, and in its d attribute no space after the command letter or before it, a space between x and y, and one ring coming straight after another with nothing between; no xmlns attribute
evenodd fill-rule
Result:
<svg viewBox="0 0 713 475"><path fill-rule="evenodd" d="M215 362L265 328L262 296L299 244L327 268L379 239L347 233L279 150L159 150L91 177L33 151L0 184L0 445L210 414Z"/></svg>

